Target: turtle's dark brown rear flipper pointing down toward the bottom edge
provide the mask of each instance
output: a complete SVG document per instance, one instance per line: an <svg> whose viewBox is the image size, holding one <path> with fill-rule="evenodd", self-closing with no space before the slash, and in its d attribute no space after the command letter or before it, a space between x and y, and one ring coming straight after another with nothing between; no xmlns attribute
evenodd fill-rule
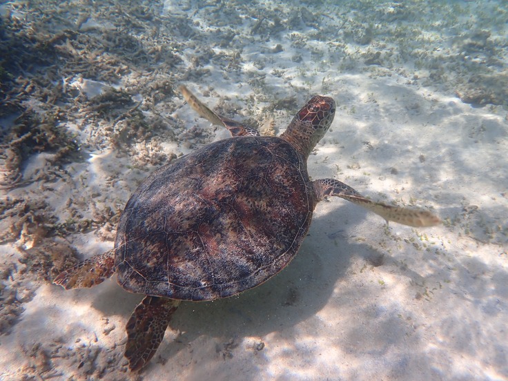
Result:
<svg viewBox="0 0 508 381"><path fill-rule="evenodd" d="M136 306L126 326L124 356L131 371L138 371L155 355L178 304L179 300L146 296Z"/></svg>

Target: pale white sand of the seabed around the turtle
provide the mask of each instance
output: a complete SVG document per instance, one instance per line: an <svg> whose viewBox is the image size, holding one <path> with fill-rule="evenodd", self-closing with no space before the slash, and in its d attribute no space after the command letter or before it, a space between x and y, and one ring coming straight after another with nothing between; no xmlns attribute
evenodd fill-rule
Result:
<svg viewBox="0 0 508 381"><path fill-rule="evenodd" d="M179 8L168 4L167 11L184 14ZM192 3L191 10L195 10ZM208 25L205 11L197 12L195 28L218 28ZM244 26L235 24L237 44L250 38L253 21L242 19ZM335 22L328 17L322 20L332 26ZM301 31L302 35L310 32L312 28ZM505 35L506 30L496 33ZM266 52L277 43L283 52ZM322 52L320 65L309 44ZM353 51L355 46L347 48ZM214 50L221 54L221 48ZM195 54L195 48L179 52L184 61ZM303 61L292 61L295 54L301 54ZM286 32L266 41L246 40L242 59L240 72L211 62L206 66L210 75L185 84L197 95L212 89L211 97L202 97L212 107L227 96L225 103L239 106L240 115L260 119L262 125L274 119L277 133L289 123L291 112L275 111L263 119L264 106L293 96L302 104L310 93L326 93L337 101L338 113L331 131L309 158L313 179L335 177L373 199L432 208L444 224L387 228L380 217L341 199L321 202L309 236L290 266L237 297L182 304L141 376L146 380L508 379L506 107L474 108L430 78L426 84L413 81L415 74L426 77L413 61L395 63L395 68L359 62L358 70L339 70L344 57L334 55L326 41L295 48ZM265 61L263 86L247 81L260 75L253 66L256 59ZM274 69L283 74L274 74ZM171 117L189 127L197 124L213 130L196 119L181 97L173 101L177 106ZM91 128L81 134L90 136ZM227 137L224 131L216 133ZM213 134L211 139L217 137ZM178 141L163 148L178 155L199 144L189 147ZM90 200L98 192L95 202L121 204L153 170L128 168L136 157L119 159L111 147L89 153L86 162L66 166L70 177L43 190L43 198L63 221L68 218L68 197ZM40 160L30 160L25 177ZM3 191L2 197L40 195L41 186L35 183ZM84 207L83 213L91 213L90 208ZM67 240L86 257L113 246L96 232ZM2 262L17 262L18 244L1 246ZM17 274L12 276L14 282ZM23 304L25 311L11 333L0 337L0 378L128 377L122 358L124 326L140 300L141 295L126 293L115 280L74 291L40 282L33 299ZM38 343L41 349L30 357Z"/></svg>

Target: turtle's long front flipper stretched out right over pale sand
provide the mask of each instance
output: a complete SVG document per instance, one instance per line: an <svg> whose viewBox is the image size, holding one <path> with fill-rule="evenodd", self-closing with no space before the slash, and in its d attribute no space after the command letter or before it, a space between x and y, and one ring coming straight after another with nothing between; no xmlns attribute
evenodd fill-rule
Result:
<svg viewBox="0 0 508 381"><path fill-rule="evenodd" d="M393 221L414 227L435 226L441 223L441 220L436 215L422 209L404 208L382 204L381 202L373 202L360 195L351 186L335 179L315 180L313 186L317 201L327 196L341 197L380 215L387 223Z"/></svg>

